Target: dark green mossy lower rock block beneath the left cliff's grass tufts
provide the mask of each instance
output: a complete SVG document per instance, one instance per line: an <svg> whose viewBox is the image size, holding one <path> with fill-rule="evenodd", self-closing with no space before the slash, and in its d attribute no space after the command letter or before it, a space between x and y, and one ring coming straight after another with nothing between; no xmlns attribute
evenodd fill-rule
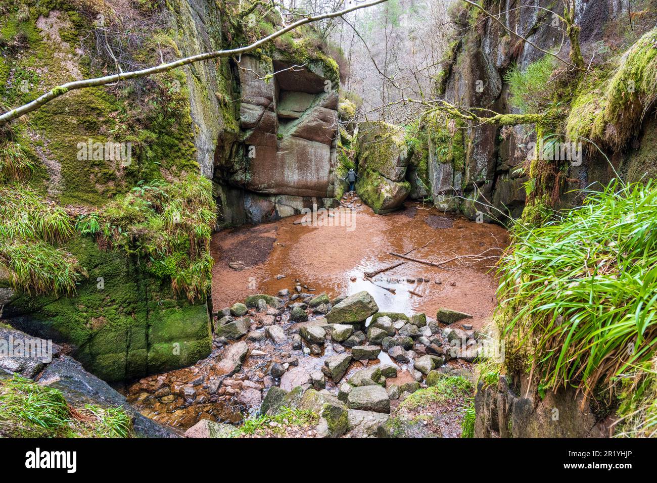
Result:
<svg viewBox="0 0 657 483"><path fill-rule="evenodd" d="M72 345L72 355L104 380L185 367L208 356L206 304L176 296L118 251L75 239L67 246L87 269L76 296L18 294L3 314L18 329Z"/></svg>

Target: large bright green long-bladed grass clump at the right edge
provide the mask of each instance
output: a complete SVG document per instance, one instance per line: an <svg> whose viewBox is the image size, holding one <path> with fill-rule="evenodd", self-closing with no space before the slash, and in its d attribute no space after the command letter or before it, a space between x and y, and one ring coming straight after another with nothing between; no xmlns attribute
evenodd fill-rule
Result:
<svg viewBox="0 0 657 483"><path fill-rule="evenodd" d="M654 377L656 213L657 185L614 182L543 225L516 225L499 267L507 367L526 365L542 390L586 396Z"/></svg>

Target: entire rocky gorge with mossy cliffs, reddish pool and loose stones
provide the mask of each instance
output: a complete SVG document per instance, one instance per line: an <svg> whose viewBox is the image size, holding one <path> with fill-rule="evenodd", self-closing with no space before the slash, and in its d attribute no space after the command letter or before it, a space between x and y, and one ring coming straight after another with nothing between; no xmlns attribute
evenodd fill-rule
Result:
<svg viewBox="0 0 657 483"><path fill-rule="evenodd" d="M0 397L53 389L84 426L66 434L120 409L145 437L601 437L654 411L657 7L452 4L438 100L390 103L413 119L371 116L346 89L359 66L304 25L0 124L0 335L55 346L0 354ZM304 15L0 5L0 111Z"/></svg>

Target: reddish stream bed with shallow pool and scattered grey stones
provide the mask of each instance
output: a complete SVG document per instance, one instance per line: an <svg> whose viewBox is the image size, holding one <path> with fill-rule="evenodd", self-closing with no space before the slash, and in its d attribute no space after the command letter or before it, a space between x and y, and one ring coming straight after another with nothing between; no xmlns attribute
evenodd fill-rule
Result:
<svg viewBox="0 0 657 483"><path fill-rule="evenodd" d="M410 244L417 250L414 256L430 253L419 246L430 233L434 240L440 237L441 254L463 254L473 246L485 250L486 246L480 248L485 244L482 238L472 232L468 235L459 224L479 226L419 210L419 205L370 218L371 210L355 196L346 195L343 204L361 214L361 230L373 234L371 243L354 246L351 252L315 250L314 264L325 263L327 269L313 277L312 284L306 277L292 278L297 273L302 276L307 267L299 260L288 265L286 275L273 275L284 269L283 250L294 250L297 259L304 258L306 244L328 233L330 244L341 247L342 237L353 240L344 227L308 230L292 217L276 226L254 227L250 233L235 231L232 240L229 235L224 245L228 249L221 252L219 262L229 265L226 277L220 279L229 283L224 284L219 302L226 300L226 287L240 293L242 283L237 280L246 283L258 275L262 282L250 287L242 300L215 310L210 356L190 367L125 386L127 401L143 415L181 433L187 431L187 436L248 436L235 428L290 408L315 418L294 423L271 419L256 436L460 436L464 402L473 392L477 329L488 318L494 301L486 265L456 270L409 262L373 279L363 272L385 267L390 260L390 256L377 259L373 255L372 250L379 254L382 245L390 243L380 226L376 235L377 227L369 225L373 220L390 223L390 228L401 228L399 233L405 234L394 241L397 246L384 248L403 253ZM431 222L436 219L442 223L434 227ZM400 222L407 225L400 227ZM294 233L302 229L306 231ZM252 250L240 251L236 245ZM254 259L260 250L265 250L264 255ZM238 253L246 263L231 260L231 254ZM331 283L339 277L328 264L340 267L336 272L347 280L346 285ZM263 276L263 271L270 275ZM472 284L478 290L470 290ZM318 286L326 287L325 291L320 292ZM277 290L257 293L272 287ZM342 294L336 295L338 290ZM216 296L216 278L214 292ZM468 298L476 310L474 317L454 310L455 306L463 310ZM438 305L442 302L445 307ZM431 312L414 313L414 308ZM447 379L462 390L453 390L453 384L443 390Z"/></svg>

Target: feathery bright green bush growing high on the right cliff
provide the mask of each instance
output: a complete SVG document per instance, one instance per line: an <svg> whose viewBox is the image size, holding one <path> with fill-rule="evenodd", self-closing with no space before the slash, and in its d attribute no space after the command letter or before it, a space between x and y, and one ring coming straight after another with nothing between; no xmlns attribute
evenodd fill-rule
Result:
<svg viewBox="0 0 657 483"><path fill-rule="evenodd" d="M545 55L541 60L532 62L523 71L512 66L505 74L509 84L509 102L522 114L539 114L549 103L553 89L549 85L556 68L556 59Z"/></svg>

